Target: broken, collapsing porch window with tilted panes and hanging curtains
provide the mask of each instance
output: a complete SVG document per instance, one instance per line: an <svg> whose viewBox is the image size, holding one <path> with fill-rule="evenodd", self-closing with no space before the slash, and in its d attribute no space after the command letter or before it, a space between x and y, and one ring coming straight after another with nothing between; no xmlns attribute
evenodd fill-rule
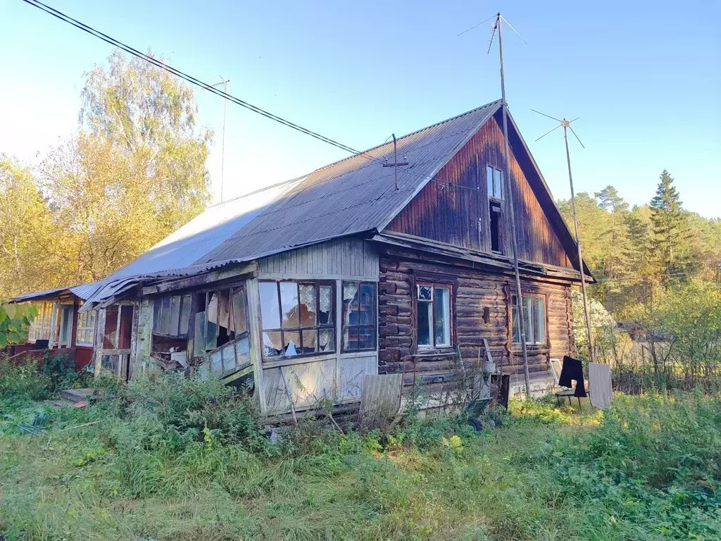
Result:
<svg viewBox="0 0 721 541"><path fill-rule="evenodd" d="M195 356L210 358L208 368L218 375L250 364L245 288L235 286L196 294Z"/></svg>

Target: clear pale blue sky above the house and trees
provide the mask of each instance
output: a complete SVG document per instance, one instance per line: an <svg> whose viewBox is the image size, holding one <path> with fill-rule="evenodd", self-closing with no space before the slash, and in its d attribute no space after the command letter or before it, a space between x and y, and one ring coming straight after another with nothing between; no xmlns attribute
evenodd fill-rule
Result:
<svg viewBox="0 0 721 541"><path fill-rule="evenodd" d="M576 191L612 184L647 203L666 168L684 205L721 216L721 2L46 0L71 17L167 58L205 82L357 149L500 97L490 25L499 9L513 117L556 198L568 198L555 117L580 117ZM549 5L550 4L550 5ZM83 73L110 45L22 0L0 0L0 152L35 164L77 125ZM197 89L215 133L223 100ZM225 197L345 157L339 149L229 104Z"/></svg>

